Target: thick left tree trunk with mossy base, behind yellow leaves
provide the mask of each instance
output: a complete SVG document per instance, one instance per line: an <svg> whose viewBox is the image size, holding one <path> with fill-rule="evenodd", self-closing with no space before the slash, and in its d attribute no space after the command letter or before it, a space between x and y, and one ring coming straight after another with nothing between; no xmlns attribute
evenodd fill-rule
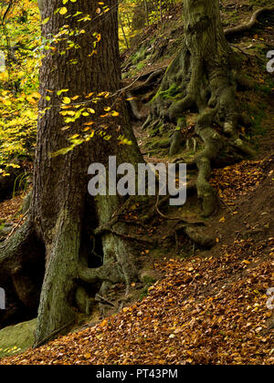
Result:
<svg viewBox="0 0 274 383"><path fill-rule="evenodd" d="M34 229L39 243L44 243L46 249L46 273L40 295L35 346L46 342L74 321L75 296L79 295L80 280L103 284L104 287L121 281L129 285L137 275L132 247L111 230L100 233L103 264L95 267L98 263L92 258L90 235L97 226L108 223L124 201L116 195L90 197L90 164L100 162L107 166L110 155L117 156L117 164L142 161L123 101L101 97L100 101L93 103L89 98L92 92L93 97L101 92L113 94L121 87L117 0L109 0L105 5L110 10L101 16L98 16L99 5L95 0L68 2L65 15L54 14L64 6L61 0L48 0L41 7L42 20L49 18L42 26L42 36L57 35L64 25L68 25L69 32L82 29L85 33L69 37L62 35L65 38L52 43L45 53L40 69L42 113L37 125L34 190L27 228L31 233ZM65 18L76 11L80 11L81 16ZM96 23L79 22L83 15L96 19ZM92 54L96 39L96 52ZM75 46L67 49L68 40ZM72 65L71 60L77 60L77 64ZM68 91L58 96L57 92L62 89ZM60 108L64 96L70 100L78 96L74 102L82 103L80 108L92 108L96 113L76 119L70 124L70 129L62 129L66 125L60 115L60 111L66 110ZM111 117L111 114L102 117L106 115L106 108L117 110L119 117ZM75 106L74 110L79 108ZM111 140L103 140L100 134L95 134L91 140L87 135L83 136L86 134L83 128L87 127L84 123L91 119L95 121L92 129L98 133L107 131ZM69 137L75 134L79 134L84 142L66 154L52 155L67 148ZM119 145L120 135L132 140L132 145ZM116 233L125 232L121 223L113 224ZM25 234L24 241L27 241L29 236ZM16 252L20 246L20 243L16 244ZM21 256L28 257L28 254L22 253Z"/></svg>

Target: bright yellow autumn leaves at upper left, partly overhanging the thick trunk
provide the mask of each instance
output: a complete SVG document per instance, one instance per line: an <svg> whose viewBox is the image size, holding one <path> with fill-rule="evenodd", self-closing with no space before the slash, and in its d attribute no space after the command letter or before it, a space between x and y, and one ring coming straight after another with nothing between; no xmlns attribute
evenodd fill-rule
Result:
<svg viewBox="0 0 274 383"><path fill-rule="evenodd" d="M3 71L0 73L0 86L8 87L11 82L20 84L18 94L12 95L5 88L0 88L0 165L5 168L9 155L14 153L27 153L26 142L33 147L35 145L36 127L37 127L37 104L40 95L37 92L38 81L37 72L39 61L45 55L58 54L64 56L68 50L75 51L75 57L70 56L66 61L67 65L79 64L79 53L81 50L80 36L90 33L90 21L92 19L103 16L109 12L110 8L104 2L98 2L98 8L95 8L94 15L83 14L76 9L77 0L62 0L61 5L55 10L54 15L64 16L67 19L61 26L55 36L45 38L40 36L39 26L47 27L47 23L52 21L54 16L48 16L41 20L37 10L37 3L31 0L26 0L24 6L33 15L29 18L31 23L24 26L16 24L16 18L10 18L9 23L13 30L12 39L22 45L29 47L29 50L24 51L24 61L20 57L20 51L16 52L16 59L20 66L14 65L9 72ZM70 10L72 11L70 12ZM16 12L21 12L19 5L15 5ZM12 16L12 14L10 14ZM79 27L74 24L70 27L69 18L79 22ZM87 23L87 24L84 24ZM1 38L1 37L0 37ZM97 54L98 45L101 41L101 35L92 30L90 33L90 57ZM5 42L3 42L5 45ZM58 47L61 47L59 49ZM88 55L89 56L89 55ZM2 90L2 91L1 91ZM42 118L48 110L58 107L60 116L64 121L60 131L62 134L67 134L71 131L70 146L65 150L59 151L63 154L72 150L73 147L79 145L83 141L89 141L93 137L100 137L103 140L111 140L111 135L107 132L108 123L112 118L119 116L119 112L112 110L110 106L106 106L106 99L109 98L110 92L101 91L88 92L88 94L70 95L68 88L62 89L46 89L47 93L43 94L39 116ZM2 106L2 108L1 108ZM101 114L104 109L105 115ZM108 123L100 125L94 129L95 121L98 119L108 119ZM76 132L76 129L78 132ZM80 132L80 133L79 133ZM73 134L74 133L74 134ZM79 136L75 136L79 134ZM122 139L123 140L123 139ZM121 140L121 141L122 141ZM126 143L126 141L124 141ZM5 171L7 173L7 171Z"/></svg>

